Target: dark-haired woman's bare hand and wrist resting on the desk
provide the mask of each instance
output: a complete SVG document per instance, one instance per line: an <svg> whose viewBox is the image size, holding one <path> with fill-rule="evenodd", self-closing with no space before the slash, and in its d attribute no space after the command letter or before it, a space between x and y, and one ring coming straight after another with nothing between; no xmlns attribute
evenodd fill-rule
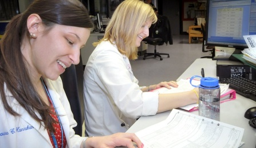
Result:
<svg viewBox="0 0 256 148"><path fill-rule="evenodd" d="M133 148L135 147L133 146L133 142L136 143L138 148L143 148L144 146L140 139L133 133L116 133L103 137L90 137L85 140L85 146L100 148L127 146L128 148Z"/></svg>

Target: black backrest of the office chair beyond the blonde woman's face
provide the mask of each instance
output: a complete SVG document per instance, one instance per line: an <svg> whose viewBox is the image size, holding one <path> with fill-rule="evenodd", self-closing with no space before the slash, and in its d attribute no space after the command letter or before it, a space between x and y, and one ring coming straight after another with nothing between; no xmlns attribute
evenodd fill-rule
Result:
<svg viewBox="0 0 256 148"><path fill-rule="evenodd" d="M158 45L163 45L164 43L167 44L168 42L169 44L173 44L170 22L166 16L157 16L157 22L152 24L149 28L149 37L163 39L163 42Z"/></svg>

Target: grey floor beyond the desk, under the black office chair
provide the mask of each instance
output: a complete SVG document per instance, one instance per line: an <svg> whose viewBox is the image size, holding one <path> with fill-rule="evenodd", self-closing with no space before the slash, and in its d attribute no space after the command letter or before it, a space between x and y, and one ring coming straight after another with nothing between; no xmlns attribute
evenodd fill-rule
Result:
<svg viewBox="0 0 256 148"><path fill-rule="evenodd" d="M188 44L188 35L173 35L174 44L157 46L157 52L168 53L170 58L162 56L149 56L143 60L143 56L131 61L132 71L139 80L140 86L158 84L161 81L176 80L193 63L202 56L211 56L210 52L202 52L202 43L193 40ZM148 45L147 52L153 52L154 46ZM195 69L195 71L200 69Z"/></svg>

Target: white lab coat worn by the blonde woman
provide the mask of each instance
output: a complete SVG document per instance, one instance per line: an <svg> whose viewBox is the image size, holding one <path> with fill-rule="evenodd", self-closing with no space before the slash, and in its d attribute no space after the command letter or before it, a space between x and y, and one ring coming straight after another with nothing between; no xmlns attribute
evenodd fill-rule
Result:
<svg viewBox="0 0 256 148"><path fill-rule="evenodd" d="M128 57L104 41L86 64L84 101L88 135L109 135L127 131L140 116L156 114L158 93L142 92Z"/></svg>

